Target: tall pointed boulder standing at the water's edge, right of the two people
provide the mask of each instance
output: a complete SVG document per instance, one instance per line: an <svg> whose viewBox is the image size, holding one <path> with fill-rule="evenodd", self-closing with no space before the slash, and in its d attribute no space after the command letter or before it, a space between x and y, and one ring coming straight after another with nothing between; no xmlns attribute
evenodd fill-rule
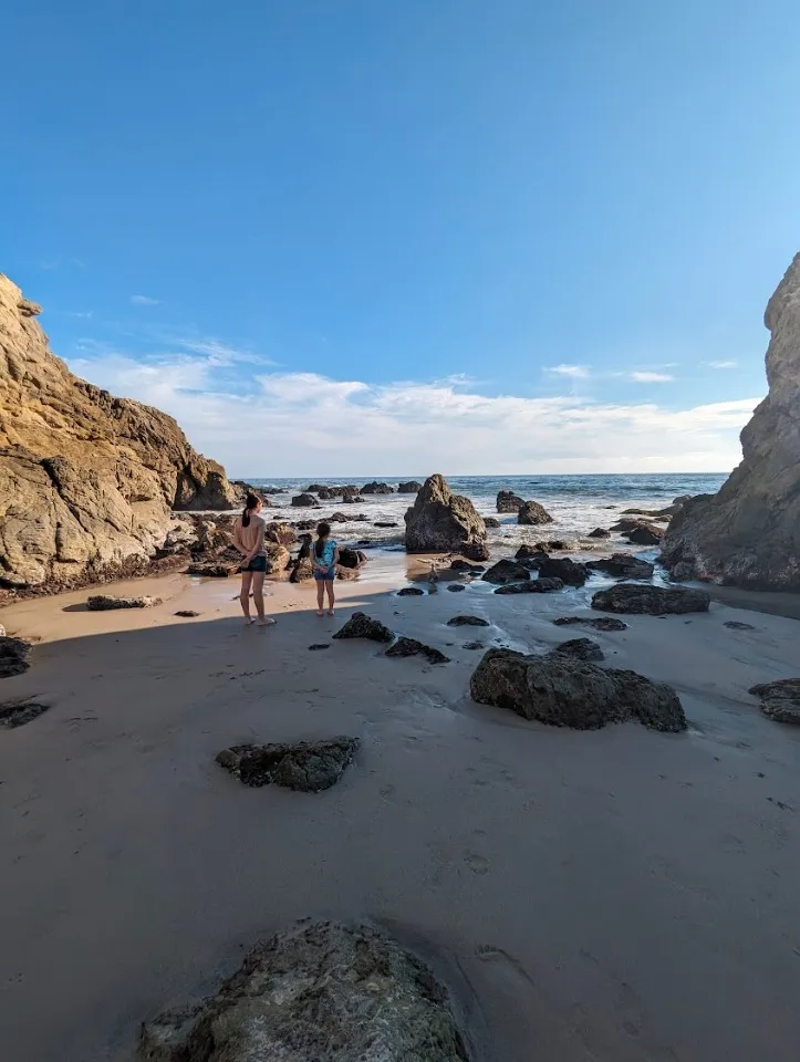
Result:
<svg viewBox="0 0 800 1062"><path fill-rule="evenodd" d="M425 480L405 522L409 553L459 553L474 561L489 555L486 524L472 502L454 494L441 476Z"/></svg>

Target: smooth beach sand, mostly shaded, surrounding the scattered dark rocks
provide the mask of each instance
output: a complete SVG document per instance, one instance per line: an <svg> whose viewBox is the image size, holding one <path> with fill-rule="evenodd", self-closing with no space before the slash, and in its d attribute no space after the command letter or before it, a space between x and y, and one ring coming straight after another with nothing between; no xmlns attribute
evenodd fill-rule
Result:
<svg viewBox="0 0 800 1062"><path fill-rule="evenodd" d="M126 1060L143 1019L307 915L422 951L485 1062L797 1062L800 732L746 693L800 671L797 621L715 603L558 628L586 592L397 597L404 568L340 584L335 621L313 587L273 586L269 629L242 627L233 580L129 584L168 598L147 612L87 613L85 592L0 612L42 638L0 696L52 705L0 731L3 1062ZM355 607L453 663L309 652ZM458 613L492 626L447 627ZM469 701L464 643L584 633L672 683L690 731L573 732ZM246 789L214 761L336 733L362 751L319 795Z"/></svg>

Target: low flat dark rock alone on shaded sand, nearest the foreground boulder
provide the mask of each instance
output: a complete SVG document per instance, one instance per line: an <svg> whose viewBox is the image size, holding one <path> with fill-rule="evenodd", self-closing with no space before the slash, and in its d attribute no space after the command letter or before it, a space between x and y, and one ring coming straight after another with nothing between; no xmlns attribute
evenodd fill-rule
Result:
<svg viewBox="0 0 800 1062"><path fill-rule="evenodd" d="M283 785L305 793L330 789L359 749L359 738L298 741L297 745L235 745L217 762L245 785Z"/></svg>

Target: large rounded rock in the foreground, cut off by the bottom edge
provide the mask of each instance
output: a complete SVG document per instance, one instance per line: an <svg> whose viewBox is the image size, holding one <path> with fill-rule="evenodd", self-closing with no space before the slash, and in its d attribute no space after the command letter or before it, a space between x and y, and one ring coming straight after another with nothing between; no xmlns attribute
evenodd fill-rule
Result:
<svg viewBox="0 0 800 1062"><path fill-rule="evenodd" d="M143 1027L141 1062L467 1062L446 990L389 937L301 923L216 996Z"/></svg>

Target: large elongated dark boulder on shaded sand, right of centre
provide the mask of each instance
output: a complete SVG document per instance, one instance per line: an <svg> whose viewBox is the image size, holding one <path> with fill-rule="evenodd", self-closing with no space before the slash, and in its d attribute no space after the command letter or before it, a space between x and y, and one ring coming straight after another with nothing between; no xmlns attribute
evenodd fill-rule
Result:
<svg viewBox="0 0 800 1062"><path fill-rule="evenodd" d="M469 684L472 700L510 708L524 719L557 727L596 730L638 719L653 730L686 729L672 687L635 671L602 668L559 654L527 656L489 649Z"/></svg>

